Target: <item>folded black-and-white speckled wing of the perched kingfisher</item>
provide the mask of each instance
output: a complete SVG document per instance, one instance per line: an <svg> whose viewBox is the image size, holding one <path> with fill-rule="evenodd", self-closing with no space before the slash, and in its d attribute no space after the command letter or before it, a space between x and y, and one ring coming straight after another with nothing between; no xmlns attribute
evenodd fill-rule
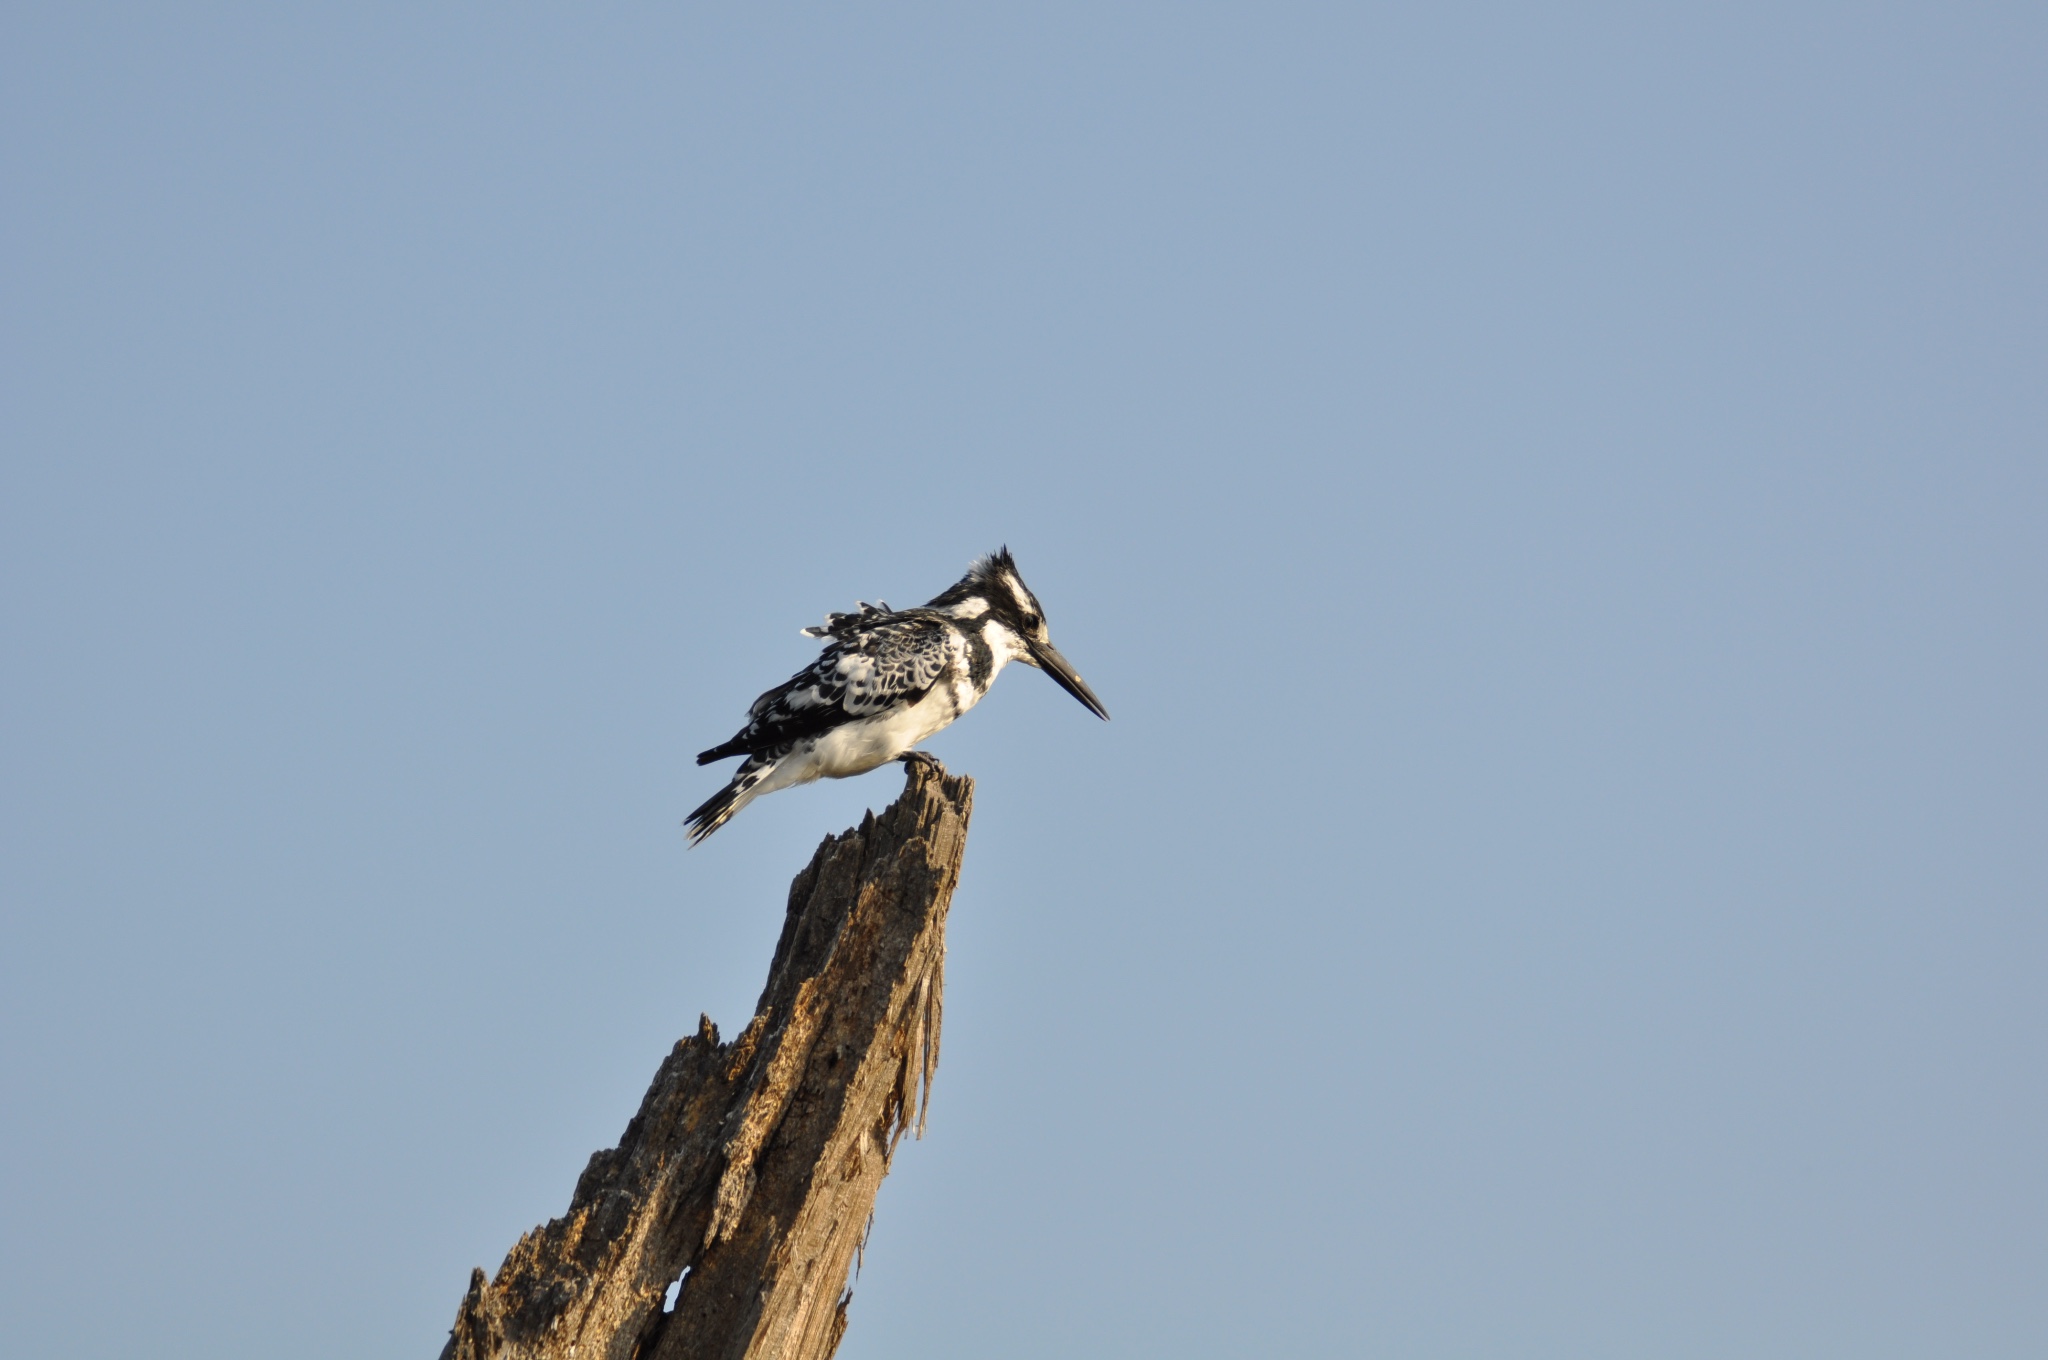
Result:
<svg viewBox="0 0 2048 1360"><path fill-rule="evenodd" d="M893 705L918 703L946 670L946 623L924 610L891 614L862 604L858 614L831 614L825 651L805 670L754 700L748 725L731 741L696 758L760 754L870 717Z"/></svg>

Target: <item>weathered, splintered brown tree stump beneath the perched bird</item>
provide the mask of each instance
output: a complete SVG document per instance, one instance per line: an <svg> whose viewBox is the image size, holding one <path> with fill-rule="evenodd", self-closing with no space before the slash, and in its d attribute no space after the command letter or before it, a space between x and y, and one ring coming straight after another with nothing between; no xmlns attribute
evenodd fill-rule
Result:
<svg viewBox="0 0 2048 1360"><path fill-rule="evenodd" d="M913 764L881 817L825 838L754 1022L676 1043L569 1213L471 1272L442 1360L831 1356L874 1192L924 1133L971 805L971 778Z"/></svg>

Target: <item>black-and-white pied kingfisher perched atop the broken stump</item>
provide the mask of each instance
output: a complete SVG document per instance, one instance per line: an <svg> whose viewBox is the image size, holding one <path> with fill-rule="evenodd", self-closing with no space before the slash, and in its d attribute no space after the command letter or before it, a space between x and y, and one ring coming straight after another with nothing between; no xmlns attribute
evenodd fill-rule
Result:
<svg viewBox="0 0 2048 1360"><path fill-rule="evenodd" d="M829 639L825 651L756 698L731 741L696 758L745 756L733 782L690 813L692 846L764 793L866 774L891 760L930 760L913 748L973 709L1010 662L1040 668L1090 713L1110 717L1053 647L1010 549L977 559L924 608L862 600L858 612L825 614L823 627L803 635Z"/></svg>

